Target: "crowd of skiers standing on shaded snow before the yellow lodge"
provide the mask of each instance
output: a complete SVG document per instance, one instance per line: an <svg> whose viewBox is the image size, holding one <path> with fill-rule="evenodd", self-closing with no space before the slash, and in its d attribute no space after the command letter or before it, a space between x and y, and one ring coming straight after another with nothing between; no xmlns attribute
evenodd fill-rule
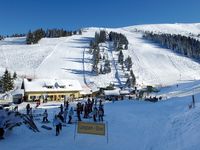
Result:
<svg viewBox="0 0 200 150"><path fill-rule="evenodd" d="M69 102L64 101L64 104L61 104L59 107L60 111L53 118L53 126L56 129L56 136L62 131L62 126L66 124L72 124L72 119L74 116L74 111L77 113L77 120L82 121L82 119L93 118L94 122L103 122L104 108L102 100L97 101L97 99L88 98L85 103L78 102L75 110L73 107L69 109ZM32 108L30 104L26 106L26 114L32 116ZM43 120L42 123L49 123L48 112L45 109L42 114Z"/></svg>

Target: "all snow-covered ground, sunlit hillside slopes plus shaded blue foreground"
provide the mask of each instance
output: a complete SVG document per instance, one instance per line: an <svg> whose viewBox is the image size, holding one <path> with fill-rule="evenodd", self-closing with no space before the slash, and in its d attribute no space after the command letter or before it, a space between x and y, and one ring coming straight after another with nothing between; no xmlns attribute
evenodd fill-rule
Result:
<svg viewBox="0 0 200 150"><path fill-rule="evenodd" d="M101 44L101 52L111 62L111 73L95 76L91 73L89 42L95 32L103 28L83 29L82 35L63 38L44 38L38 44L26 45L25 38L6 38L0 41L0 74L16 71L19 77L77 79L83 87L120 85L125 73L117 64L118 52L111 43ZM24 126L6 132L0 141L2 150L199 150L200 148L200 64L158 44L144 40L140 31L174 33L194 36L200 33L200 24L139 25L125 28L105 29L127 36L137 85L154 85L160 89L156 95L164 101L150 103L124 100L105 104L105 121L108 121L109 141L106 137L76 135L75 124L63 127L56 137L55 129L47 131L36 120L40 133L32 133ZM178 86L177 86L178 84ZM195 94L196 107L188 109L191 95ZM26 104L20 105L20 111ZM35 105L35 104L32 104ZM71 104L74 105L74 104ZM60 103L42 104L35 113L48 109L52 121ZM73 118L77 120L76 117ZM87 120L92 121L92 120ZM48 124L52 126L52 124Z"/></svg>

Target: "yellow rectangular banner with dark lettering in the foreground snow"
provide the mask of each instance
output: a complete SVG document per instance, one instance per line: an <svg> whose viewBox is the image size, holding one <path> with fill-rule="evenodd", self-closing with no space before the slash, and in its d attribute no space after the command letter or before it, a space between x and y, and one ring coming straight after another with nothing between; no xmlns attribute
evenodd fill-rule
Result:
<svg viewBox="0 0 200 150"><path fill-rule="evenodd" d="M104 123L78 122L78 133L105 135Z"/></svg>

